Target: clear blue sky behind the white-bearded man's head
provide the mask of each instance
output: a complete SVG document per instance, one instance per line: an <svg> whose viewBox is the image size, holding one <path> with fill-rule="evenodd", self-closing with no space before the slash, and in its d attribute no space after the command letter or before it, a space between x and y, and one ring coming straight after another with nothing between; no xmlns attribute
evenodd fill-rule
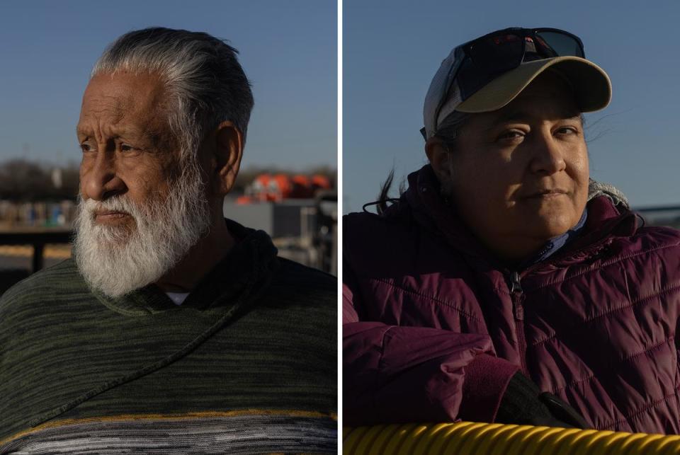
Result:
<svg viewBox="0 0 680 455"><path fill-rule="evenodd" d="M242 166L336 167L333 0L0 3L0 160L79 161L75 126L89 71L119 35L205 31L240 52L255 108Z"/></svg>

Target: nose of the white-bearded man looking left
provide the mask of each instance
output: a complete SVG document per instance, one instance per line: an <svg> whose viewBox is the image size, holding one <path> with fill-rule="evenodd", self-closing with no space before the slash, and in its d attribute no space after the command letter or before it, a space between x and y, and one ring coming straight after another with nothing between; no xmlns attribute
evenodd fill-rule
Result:
<svg viewBox="0 0 680 455"><path fill-rule="evenodd" d="M81 191L85 199L105 200L127 190L116 171L115 151L98 151L81 164Z"/></svg>

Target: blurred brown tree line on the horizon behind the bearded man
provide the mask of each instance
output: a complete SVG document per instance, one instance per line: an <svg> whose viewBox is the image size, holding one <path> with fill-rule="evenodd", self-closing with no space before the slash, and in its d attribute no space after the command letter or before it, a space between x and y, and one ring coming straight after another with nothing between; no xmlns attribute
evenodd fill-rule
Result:
<svg viewBox="0 0 680 455"><path fill-rule="evenodd" d="M337 188L336 170L330 167L290 171L285 168L249 167L239 171L232 194L244 192L257 175L263 173L297 173L326 175ZM79 190L79 171L76 163L50 166L23 158L0 162L0 200L14 202L76 200Z"/></svg>

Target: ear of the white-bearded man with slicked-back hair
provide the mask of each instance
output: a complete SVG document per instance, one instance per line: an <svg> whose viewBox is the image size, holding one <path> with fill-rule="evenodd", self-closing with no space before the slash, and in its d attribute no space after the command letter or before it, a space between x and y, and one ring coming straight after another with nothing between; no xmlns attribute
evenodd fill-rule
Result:
<svg viewBox="0 0 680 455"><path fill-rule="evenodd" d="M214 150L212 190L218 195L226 195L234 186L243 156L243 133L233 122L226 121L217 125Z"/></svg>

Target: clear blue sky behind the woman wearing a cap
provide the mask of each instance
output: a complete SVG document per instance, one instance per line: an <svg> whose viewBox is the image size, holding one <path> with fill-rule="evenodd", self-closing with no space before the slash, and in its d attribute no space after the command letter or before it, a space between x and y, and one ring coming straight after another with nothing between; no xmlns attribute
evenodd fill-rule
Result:
<svg viewBox="0 0 680 455"><path fill-rule="evenodd" d="M511 26L569 30L611 77L587 115L591 176L634 206L680 205L680 2L362 1L343 4L344 212L426 163L422 102L456 45Z"/></svg>

